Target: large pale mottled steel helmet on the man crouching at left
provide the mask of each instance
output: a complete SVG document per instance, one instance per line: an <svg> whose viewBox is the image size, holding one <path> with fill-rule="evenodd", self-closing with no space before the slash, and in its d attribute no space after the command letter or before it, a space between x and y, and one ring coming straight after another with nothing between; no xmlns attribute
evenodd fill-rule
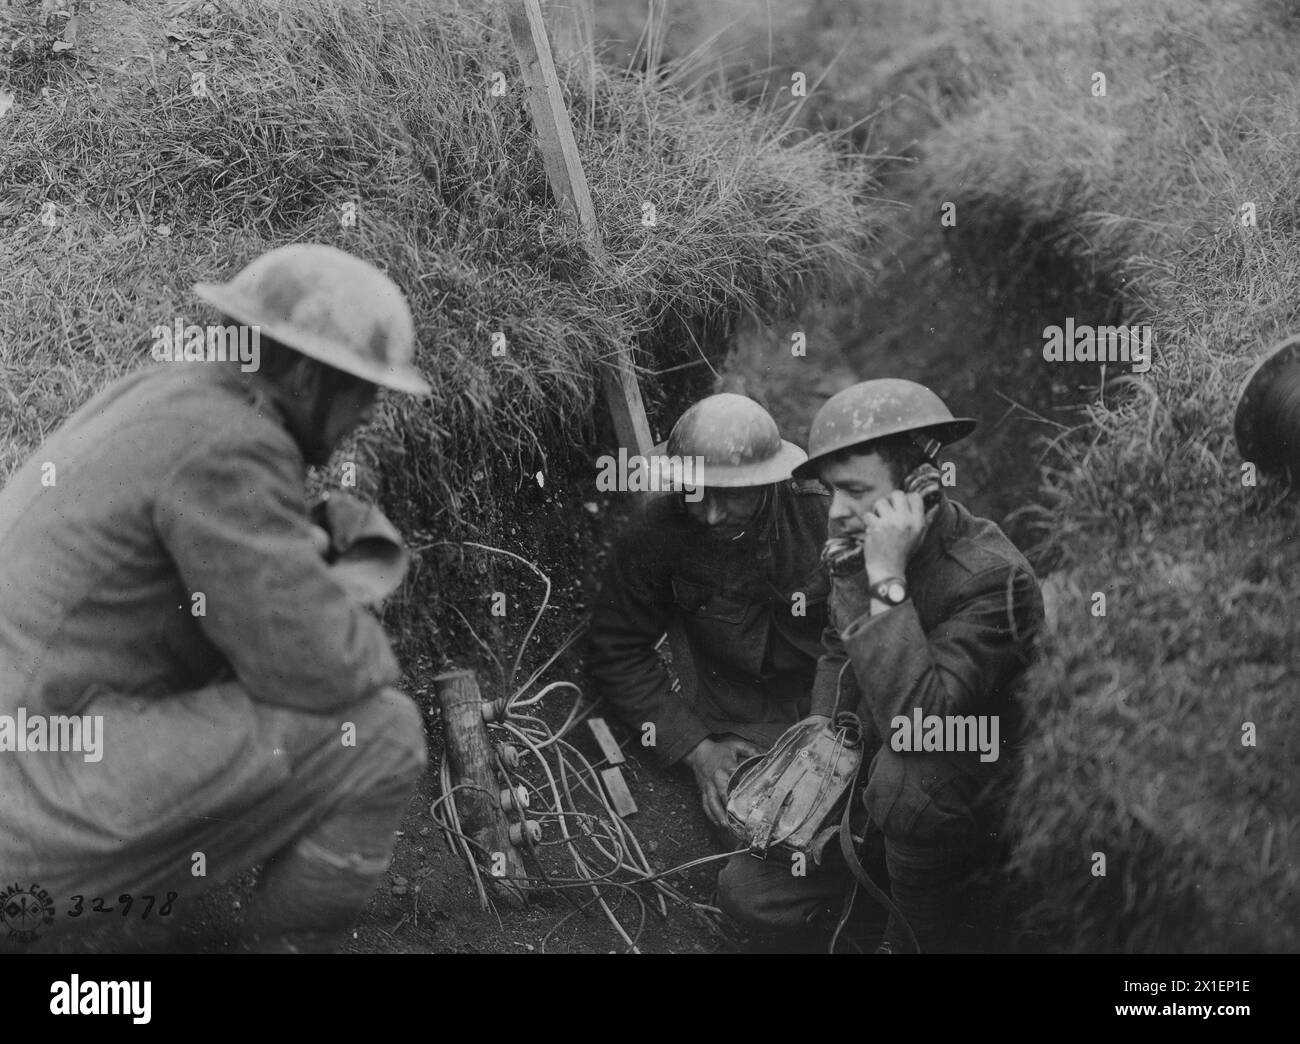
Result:
<svg viewBox="0 0 1300 1044"><path fill-rule="evenodd" d="M415 324L406 296L378 268L337 247L277 247L230 282L200 282L194 293L334 369L412 395L432 391L412 364Z"/></svg>

